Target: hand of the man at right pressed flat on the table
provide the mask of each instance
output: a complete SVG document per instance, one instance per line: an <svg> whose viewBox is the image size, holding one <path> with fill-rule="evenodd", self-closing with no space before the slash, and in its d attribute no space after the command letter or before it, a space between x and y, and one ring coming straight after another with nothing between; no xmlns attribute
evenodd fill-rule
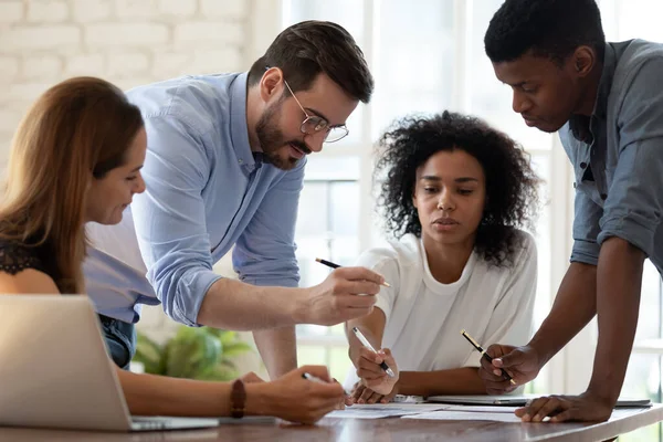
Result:
<svg viewBox="0 0 663 442"><path fill-rule="evenodd" d="M580 396L549 396L533 400L516 410L523 422L606 421L610 418L614 401L600 398L589 391Z"/></svg>

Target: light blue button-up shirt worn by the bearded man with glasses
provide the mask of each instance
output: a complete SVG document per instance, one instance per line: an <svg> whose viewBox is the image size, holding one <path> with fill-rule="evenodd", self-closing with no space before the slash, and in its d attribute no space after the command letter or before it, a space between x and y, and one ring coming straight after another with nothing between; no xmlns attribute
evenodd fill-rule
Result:
<svg viewBox="0 0 663 442"><path fill-rule="evenodd" d="M249 145L246 73L187 76L127 93L140 107L147 190L118 225L90 223L84 265L99 313L138 320L158 304L182 324L219 280L231 248L241 281L296 286L295 221L305 160L283 171Z"/></svg>

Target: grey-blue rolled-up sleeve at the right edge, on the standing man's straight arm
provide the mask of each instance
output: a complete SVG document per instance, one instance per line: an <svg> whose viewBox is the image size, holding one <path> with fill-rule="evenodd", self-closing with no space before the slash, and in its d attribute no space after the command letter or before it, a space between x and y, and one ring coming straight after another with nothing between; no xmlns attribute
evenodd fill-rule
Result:
<svg viewBox="0 0 663 442"><path fill-rule="evenodd" d="M663 88L656 86L663 60L643 64L633 75L618 117L619 160L600 220L599 245L621 238L653 254L663 212Z"/></svg>

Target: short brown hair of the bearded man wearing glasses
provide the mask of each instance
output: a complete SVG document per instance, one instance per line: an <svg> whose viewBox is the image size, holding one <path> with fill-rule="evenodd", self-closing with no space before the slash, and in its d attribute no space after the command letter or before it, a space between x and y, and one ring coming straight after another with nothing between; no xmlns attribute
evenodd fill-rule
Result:
<svg viewBox="0 0 663 442"><path fill-rule="evenodd" d="M249 86L255 85L267 67L280 67L293 92L307 91L325 73L348 95L370 101L373 78L364 53L343 27L329 21L303 21L276 36L249 71Z"/></svg>

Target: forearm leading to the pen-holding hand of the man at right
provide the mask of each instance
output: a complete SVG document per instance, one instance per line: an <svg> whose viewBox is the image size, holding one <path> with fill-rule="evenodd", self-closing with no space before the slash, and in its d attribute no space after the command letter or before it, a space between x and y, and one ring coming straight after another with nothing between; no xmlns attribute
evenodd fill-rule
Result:
<svg viewBox="0 0 663 442"><path fill-rule="evenodd" d="M552 309L529 341L541 358L541 366L573 338L597 313L597 267L571 263Z"/></svg>

